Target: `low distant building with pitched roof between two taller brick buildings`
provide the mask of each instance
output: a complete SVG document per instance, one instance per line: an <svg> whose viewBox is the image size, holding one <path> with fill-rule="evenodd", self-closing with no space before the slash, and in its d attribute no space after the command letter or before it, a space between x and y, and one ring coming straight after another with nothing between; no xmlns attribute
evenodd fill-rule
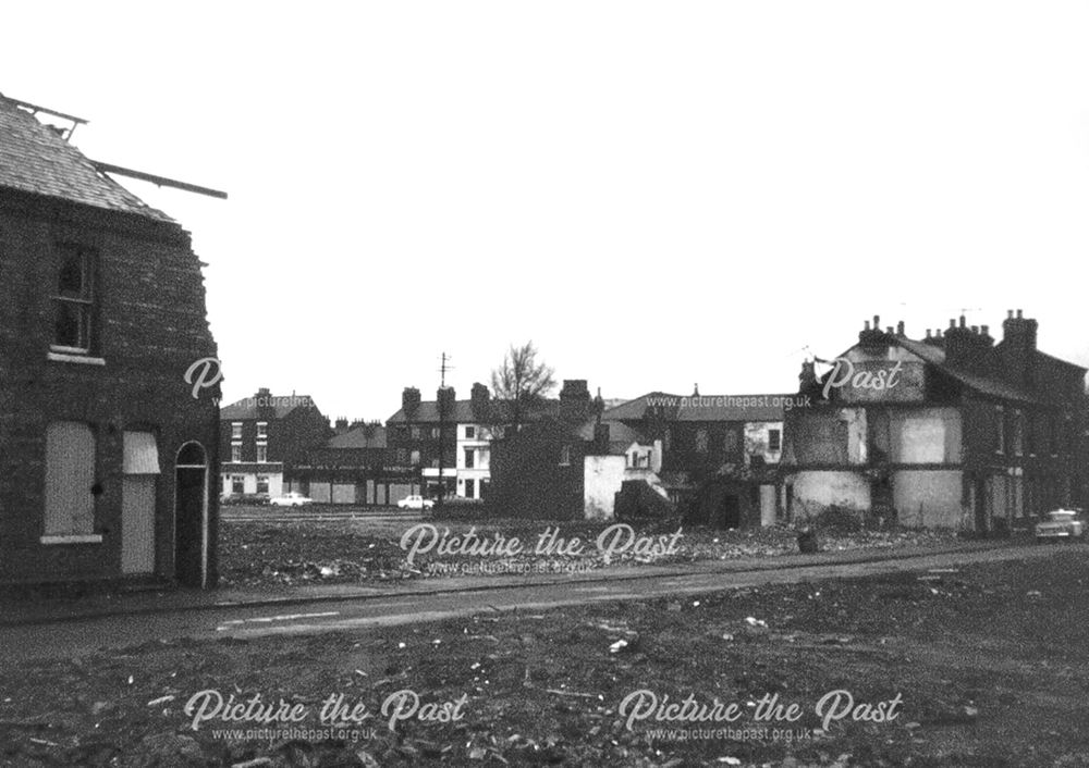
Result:
<svg viewBox="0 0 1089 768"><path fill-rule="evenodd" d="M387 428L377 422L338 420L337 434L287 469L289 490L315 501L386 506L419 493L418 468L396 463Z"/></svg>

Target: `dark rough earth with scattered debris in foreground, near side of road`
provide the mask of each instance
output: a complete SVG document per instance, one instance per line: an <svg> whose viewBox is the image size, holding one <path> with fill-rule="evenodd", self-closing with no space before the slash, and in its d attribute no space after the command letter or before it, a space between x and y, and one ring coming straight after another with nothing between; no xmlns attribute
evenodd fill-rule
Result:
<svg viewBox="0 0 1089 768"><path fill-rule="evenodd" d="M1087 597L1089 550L1069 546L1032 562L683 602L154 643L0 674L0 761L1086 766ZM269 740L230 732L255 723L221 720L194 731L183 708L211 689L242 702L260 694L262 703L302 704L307 720L295 727L310 732ZM448 721L413 717L389 730L382 703L409 689L423 703L449 703L428 709ZM732 723L651 716L629 729L622 702L639 690L661 703L689 695L708 706L736 703L743 716ZM895 716L856 722L848 714L822 728L815 708L836 690L856 707L869 705L854 710L860 715L884 702ZM752 705L776 693L798 705L797 721L757 721ZM372 717L354 733L315 733L331 694L344 694L350 707L363 703Z"/></svg>

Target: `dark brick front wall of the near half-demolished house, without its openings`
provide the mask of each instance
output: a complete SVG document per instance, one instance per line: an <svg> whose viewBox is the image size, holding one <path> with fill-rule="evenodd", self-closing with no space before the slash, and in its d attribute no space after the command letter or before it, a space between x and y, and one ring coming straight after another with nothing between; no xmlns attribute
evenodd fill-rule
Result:
<svg viewBox="0 0 1089 768"><path fill-rule="evenodd" d="M93 356L47 359L58 241L98 249ZM121 572L122 435L157 434L156 573L175 574L174 457L199 442L209 462L209 579L216 577L218 387L192 397L184 373L216 355L205 287L180 226L0 190L0 581L112 578ZM88 424L96 442L99 544L42 545L46 428Z"/></svg>

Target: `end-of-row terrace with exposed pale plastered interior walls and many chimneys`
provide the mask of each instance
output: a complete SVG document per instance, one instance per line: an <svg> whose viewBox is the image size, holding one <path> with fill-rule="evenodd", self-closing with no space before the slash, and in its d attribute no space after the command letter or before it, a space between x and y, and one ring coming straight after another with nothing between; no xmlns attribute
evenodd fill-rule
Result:
<svg viewBox="0 0 1089 768"><path fill-rule="evenodd" d="M986 534L1086 503L1086 369L1037 349L1037 321L904 324L858 334L837 368L803 369L815 407L787 413L785 492L798 519L837 506Z"/></svg>

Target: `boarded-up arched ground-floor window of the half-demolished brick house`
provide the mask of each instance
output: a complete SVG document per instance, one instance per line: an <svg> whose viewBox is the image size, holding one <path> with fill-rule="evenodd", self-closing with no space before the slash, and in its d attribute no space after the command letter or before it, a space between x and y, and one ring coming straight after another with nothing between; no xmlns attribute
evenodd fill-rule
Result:
<svg viewBox="0 0 1089 768"><path fill-rule="evenodd" d="M46 430L47 536L88 535L95 529L95 436L90 428L58 421Z"/></svg>

